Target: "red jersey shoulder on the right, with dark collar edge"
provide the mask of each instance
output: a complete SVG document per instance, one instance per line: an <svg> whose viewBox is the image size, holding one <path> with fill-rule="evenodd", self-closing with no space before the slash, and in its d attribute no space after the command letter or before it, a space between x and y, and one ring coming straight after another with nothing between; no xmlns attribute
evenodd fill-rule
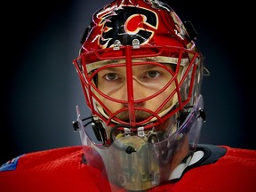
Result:
<svg viewBox="0 0 256 192"><path fill-rule="evenodd" d="M197 164L176 183L185 191L246 191L256 188L256 151L228 146L205 145L210 151L203 162ZM193 184L191 184L193 180ZM183 190L184 189L184 190Z"/></svg>

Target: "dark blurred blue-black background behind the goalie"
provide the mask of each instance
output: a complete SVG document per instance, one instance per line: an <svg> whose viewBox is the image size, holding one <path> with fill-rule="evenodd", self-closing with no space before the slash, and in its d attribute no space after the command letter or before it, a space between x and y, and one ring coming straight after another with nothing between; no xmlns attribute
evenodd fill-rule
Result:
<svg viewBox="0 0 256 192"><path fill-rule="evenodd" d="M80 145L76 105L88 116L72 60L91 15L107 0L18 1L1 13L0 163L31 151ZM255 11L246 1L164 1L191 20L211 76L201 143L256 148Z"/></svg>

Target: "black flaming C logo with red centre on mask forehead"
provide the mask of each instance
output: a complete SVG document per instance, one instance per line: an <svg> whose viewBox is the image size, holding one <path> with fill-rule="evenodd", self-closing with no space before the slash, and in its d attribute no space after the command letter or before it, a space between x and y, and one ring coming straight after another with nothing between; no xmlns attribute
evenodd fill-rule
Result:
<svg viewBox="0 0 256 192"><path fill-rule="evenodd" d="M112 47L116 39L123 45L132 44L134 38L146 44L154 36L158 27L155 12L140 7L123 8L101 16L99 44L102 48Z"/></svg>

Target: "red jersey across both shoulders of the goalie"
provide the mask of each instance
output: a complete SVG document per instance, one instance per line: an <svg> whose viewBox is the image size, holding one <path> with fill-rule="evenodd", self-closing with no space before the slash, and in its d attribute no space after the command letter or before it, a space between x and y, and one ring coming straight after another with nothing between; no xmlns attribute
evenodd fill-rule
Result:
<svg viewBox="0 0 256 192"><path fill-rule="evenodd" d="M180 180L148 191L256 191L256 151L204 145L204 158ZM82 161L81 147L55 148L18 156L0 167L1 192L108 192L101 171ZM116 188L116 191L125 191Z"/></svg>

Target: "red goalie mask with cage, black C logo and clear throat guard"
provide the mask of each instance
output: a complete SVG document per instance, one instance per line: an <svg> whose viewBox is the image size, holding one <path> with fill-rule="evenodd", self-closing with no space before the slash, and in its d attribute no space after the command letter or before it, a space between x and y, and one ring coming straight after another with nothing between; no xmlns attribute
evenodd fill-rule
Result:
<svg viewBox="0 0 256 192"><path fill-rule="evenodd" d="M112 188L154 188L189 164L204 122L192 29L159 1L116 0L93 14L74 60L92 116L84 123L77 108L75 127L86 163L103 165Z"/></svg>

